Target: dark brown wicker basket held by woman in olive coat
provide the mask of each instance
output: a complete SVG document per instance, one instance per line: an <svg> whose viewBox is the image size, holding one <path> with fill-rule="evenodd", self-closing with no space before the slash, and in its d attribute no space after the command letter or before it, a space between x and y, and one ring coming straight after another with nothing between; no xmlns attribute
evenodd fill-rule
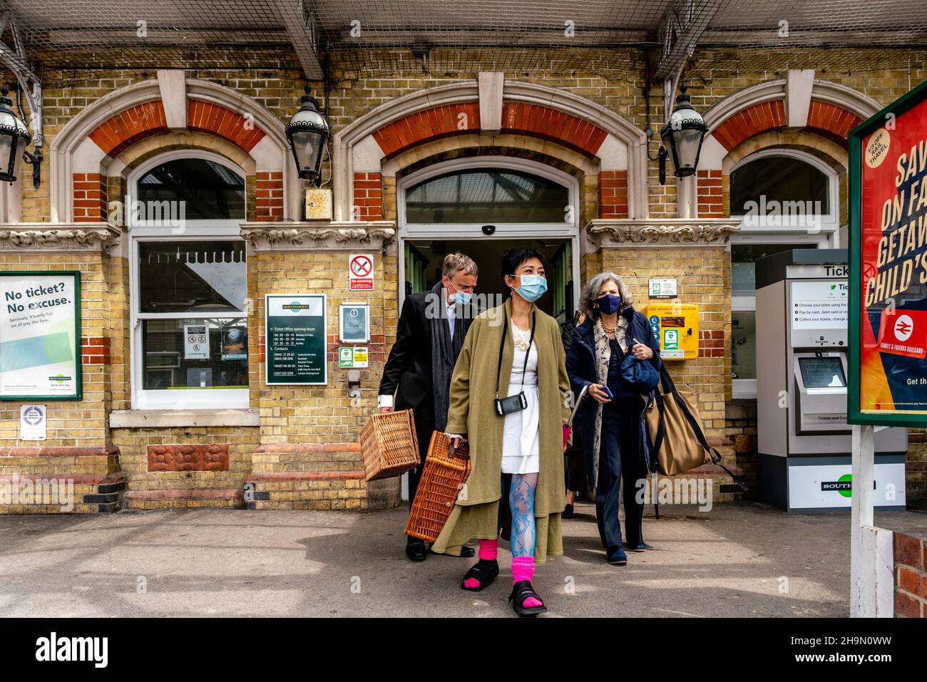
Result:
<svg viewBox="0 0 927 682"><path fill-rule="evenodd" d="M451 440L441 431L431 435L425 468L415 490L415 499L405 534L434 542L447 522L457 494L470 475L470 452L465 443L451 451Z"/></svg>

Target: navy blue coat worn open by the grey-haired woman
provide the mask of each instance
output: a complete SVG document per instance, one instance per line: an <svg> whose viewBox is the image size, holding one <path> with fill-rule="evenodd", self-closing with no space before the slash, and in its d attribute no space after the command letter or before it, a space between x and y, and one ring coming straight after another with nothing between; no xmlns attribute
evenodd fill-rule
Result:
<svg viewBox="0 0 927 682"><path fill-rule="evenodd" d="M654 333L650 329L650 323L647 318L633 307L622 310L622 316L629 320L628 324L628 341L629 348L633 345L630 339L636 338L643 344L654 350L654 357L650 362L654 368L659 371L662 364L660 360L660 346L654 338ZM588 316L586 320L573 330L573 343L570 344L569 351L566 353L566 373L570 377L570 387L573 389L573 395L578 396L583 386L599 383L599 373L595 363L595 335L592 326L595 320ZM590 489L592 489L592 450L595 447L595 416L596 407L599 403L591 398L587 393L579 407L577 419L583 423L582 445L586 455L586 472L589 479ZM650 456L650 437L646 433L646 425L641 417L641 449L643 450L644 466L653 471L653 461Z"/></svg>

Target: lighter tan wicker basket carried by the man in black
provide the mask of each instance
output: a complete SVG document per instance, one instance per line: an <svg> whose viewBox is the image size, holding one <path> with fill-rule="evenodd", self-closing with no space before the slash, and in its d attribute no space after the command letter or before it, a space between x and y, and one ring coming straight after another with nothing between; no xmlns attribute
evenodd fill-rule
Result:
<svg viewBox="0 0 927 682"><path fill-rule="evenodd" d="M412 410L375 413L361 429L363 477L400 476L419 463Z"/></svg>

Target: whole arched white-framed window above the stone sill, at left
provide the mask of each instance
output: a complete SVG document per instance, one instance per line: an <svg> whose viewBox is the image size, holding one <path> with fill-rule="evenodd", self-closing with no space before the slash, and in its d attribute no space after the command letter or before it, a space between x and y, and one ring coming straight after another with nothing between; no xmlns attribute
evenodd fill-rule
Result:
<svg viewBox="0 0 927 682"><path fill-rule="evenodd" d="M174 151L130 173L133 408L248 407L245 174Z"/></svg>

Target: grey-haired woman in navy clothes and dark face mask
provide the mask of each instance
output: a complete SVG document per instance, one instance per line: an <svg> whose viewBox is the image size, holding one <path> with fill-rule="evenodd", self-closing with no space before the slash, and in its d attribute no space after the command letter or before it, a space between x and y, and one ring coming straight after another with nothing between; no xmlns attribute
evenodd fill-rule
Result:
<svg viewBox="0 0 927 682"><path fill-rule="evenodd" d="M573 333L566 355L566 373L578 396L583 423L590 490L595 491L599 537L609 563L628 563L618 523L619 490L624 474L625 541L643 551L643 503L637 501L638 481L646 479L647 462L642 429L646 405L640 385L623 378L622 362L629 355L649 362L658 372L660 347L647 319L631 306L627 284L615 272L592 277L579 298L586 319Z"/></svg>

